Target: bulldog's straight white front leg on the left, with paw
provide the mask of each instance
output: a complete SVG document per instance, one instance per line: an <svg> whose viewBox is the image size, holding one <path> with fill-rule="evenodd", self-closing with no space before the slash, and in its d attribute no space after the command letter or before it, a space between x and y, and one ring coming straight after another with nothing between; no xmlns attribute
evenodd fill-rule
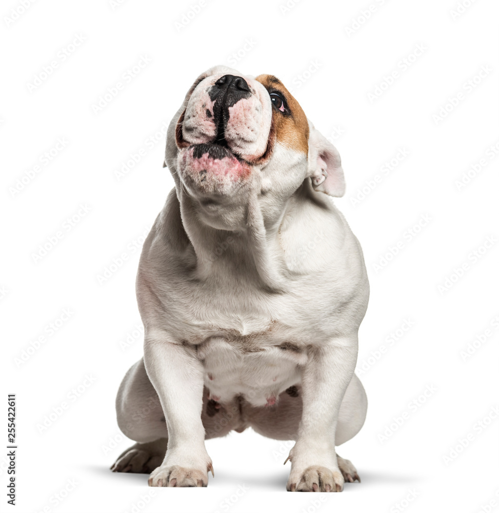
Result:
<svg viewBox="0 0 499 513"><path fill-rule="evenodd" d="M144 363L168 428L165 459L149 486L207 486L213 466L201 420L203 365L189 347L170 342L161 331L146 334Z"/></svg>

